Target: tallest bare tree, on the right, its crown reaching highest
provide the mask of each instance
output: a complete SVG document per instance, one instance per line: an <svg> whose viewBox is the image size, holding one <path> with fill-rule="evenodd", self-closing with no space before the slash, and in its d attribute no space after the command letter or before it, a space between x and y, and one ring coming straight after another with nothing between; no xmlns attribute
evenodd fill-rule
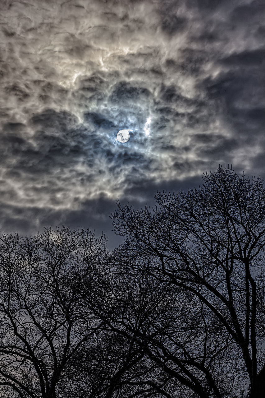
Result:
<svg viewBox="0 0 265 398"><path fill-rule="evenodd" d="M144 267L154 279L179 289L177 297L186 297L187 308L193 302L198 312L201 306L200 326L191 324L193 333L201 330L197 339L201 355L195 355L192 337L188 349L178 337L163 352L164 371L172 371L170 355L179 345L175 378L182 378L183 385L198 396L240 396L247 379L251 397L263 396L263 181L220 167L204 174L199 189L157 193L156 201L152 211L118 202L112 218L116 233L126 236L116 258L121 261L124 255L127 272L141 273ZM126 329L128 334L127 325ZM177 335L181 336L181 330ZM165 336L170 338L168 330ZM182 338L188 336L187 328L183 329ZM152 356L159 344L154 344L152 336L146 338L153 346Z"/></svg>

